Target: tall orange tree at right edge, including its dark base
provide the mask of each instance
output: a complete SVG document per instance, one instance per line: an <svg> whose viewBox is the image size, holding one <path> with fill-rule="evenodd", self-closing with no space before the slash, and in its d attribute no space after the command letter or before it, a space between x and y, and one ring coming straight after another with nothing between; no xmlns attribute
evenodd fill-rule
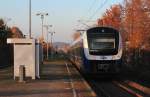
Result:
<svg viewBox="0 0 150 97"><path fill-rule="evenodd" d="M134 66L142 64L150 51L149 6L149 0L125 0L124 33L129 43L130 59L132 64L136 64Z"/></svg>

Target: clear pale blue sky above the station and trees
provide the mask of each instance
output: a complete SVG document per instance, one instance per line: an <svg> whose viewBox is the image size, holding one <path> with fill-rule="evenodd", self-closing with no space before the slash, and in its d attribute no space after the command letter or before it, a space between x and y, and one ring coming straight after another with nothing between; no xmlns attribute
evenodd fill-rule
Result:
<svg viewBox="0 0 150 97"><path fill-rule="evenodd" d="M55 31L54 41L71 42L77 20L99 18L112 4L123 0L32 0L32 32L34 37L41 35L41 19L37 12L48 12L44 24L52 24ZM105 2L105 3L104 3ZM102 7L100 7L102 6ZM98 11L96 11L99 8ZM23 34L28 34L29 0L1 0L0 18L11 18L9 26L18 26ZM96 13L96 14L94 14ZM94 15L93 15L94 14ZM81 24L80 24L81 25ZM80 26L81 27L81 26ZM44 30L45 31L45 30Z"/></svg>

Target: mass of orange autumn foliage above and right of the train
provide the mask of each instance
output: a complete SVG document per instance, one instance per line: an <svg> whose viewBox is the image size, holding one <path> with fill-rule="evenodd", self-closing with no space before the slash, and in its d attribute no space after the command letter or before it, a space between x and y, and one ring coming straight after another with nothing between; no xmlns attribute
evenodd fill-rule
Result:
<svg viewBox="0 0 150 97"><path fill-rule="evenodd" d="M150 0L124 0L123 5L113 5L107 9L98 20L98 26L118 29L130 48L150 47L149 9Z"/></svg>

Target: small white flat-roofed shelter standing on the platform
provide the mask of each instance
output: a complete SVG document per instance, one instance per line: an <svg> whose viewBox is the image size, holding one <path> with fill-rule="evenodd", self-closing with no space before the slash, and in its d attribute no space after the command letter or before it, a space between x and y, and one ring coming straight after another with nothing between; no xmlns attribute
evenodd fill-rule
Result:
<svg viewBox="0 0 150 97"><path fill-rule="evenodd" d="M35 39L9 38L7 43L14 45L14 79L19 77L19 67L25 67L25 77L40 78L40 44Z"/></svg>

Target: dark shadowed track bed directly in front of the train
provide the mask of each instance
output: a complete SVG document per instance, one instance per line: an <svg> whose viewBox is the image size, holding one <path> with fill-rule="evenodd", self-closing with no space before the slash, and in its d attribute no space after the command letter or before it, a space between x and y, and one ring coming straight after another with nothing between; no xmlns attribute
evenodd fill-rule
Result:
<svg viewBox="0 0 150 97"><path fill-rule="evenodd" d="M98 97L135 97L111 81L92 81L90 85Z"/></svg>

